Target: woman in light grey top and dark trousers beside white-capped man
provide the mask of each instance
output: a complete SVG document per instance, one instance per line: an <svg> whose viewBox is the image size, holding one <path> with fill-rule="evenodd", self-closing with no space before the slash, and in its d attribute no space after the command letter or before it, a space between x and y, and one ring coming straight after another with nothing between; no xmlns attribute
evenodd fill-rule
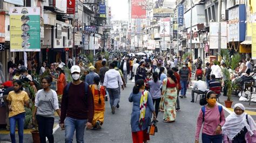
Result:
<svg viewBox="0 0 256 143"><path fill-rule="evenodd" d="M37 91L35 98L35 109L33 110L32 120L37 120L40 142L46 142L45 137L49 142L54 142L52 129L54 124L55 111L60 117L58 96L56 91L50 89L52 77L45 76L41 80L42 88ZM36 117L36 118L35 118Z"/></svg>

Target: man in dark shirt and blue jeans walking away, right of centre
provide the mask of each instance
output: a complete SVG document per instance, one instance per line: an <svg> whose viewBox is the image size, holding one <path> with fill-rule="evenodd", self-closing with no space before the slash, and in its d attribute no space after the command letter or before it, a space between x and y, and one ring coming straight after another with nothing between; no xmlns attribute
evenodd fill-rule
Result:
<svg viewBox="0 0 256 143"><path fill-rule="evenodd" d="M180 84L181 84L181 91L180 91L180 98L186 98L186 91L187 91L187 84L190 79L190 71L186 68L184 64L183 67L179 70L180 75Z"/></svg>

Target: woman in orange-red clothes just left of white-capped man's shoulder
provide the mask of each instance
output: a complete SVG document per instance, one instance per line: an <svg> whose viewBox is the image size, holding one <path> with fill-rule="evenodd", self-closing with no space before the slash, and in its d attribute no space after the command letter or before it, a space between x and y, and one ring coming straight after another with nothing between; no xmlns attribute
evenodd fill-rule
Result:
<svg viewBox="0 0 256 143"><path fill-rule="evenodd" d="M58 80L57 80L57 95L63 95L63 90L66 83L65 73L61 68L56 68L56 72L59 74Z"/></svg>

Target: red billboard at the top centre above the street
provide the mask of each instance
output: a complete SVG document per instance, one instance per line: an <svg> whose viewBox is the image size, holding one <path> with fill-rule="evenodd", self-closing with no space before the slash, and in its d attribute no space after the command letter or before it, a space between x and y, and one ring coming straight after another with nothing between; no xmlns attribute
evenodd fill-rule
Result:
<svg viewBox="0 0 256 143"><path fill-rule="evenodd" d="M132 0L131 5L132 5L132 12L131 12L131 17L132 18L146 18L146 9L143 9L143 6L140 3L145 2L145 0Z"/></svg>

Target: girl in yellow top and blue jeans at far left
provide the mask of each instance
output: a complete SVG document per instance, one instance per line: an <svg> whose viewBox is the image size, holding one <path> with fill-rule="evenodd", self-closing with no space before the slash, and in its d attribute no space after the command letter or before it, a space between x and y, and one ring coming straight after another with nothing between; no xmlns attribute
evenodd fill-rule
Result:
<svg viewBox="0 0 256 143"><path fill-rule="evenodd" d="M25 108L29 105L29 96L23 91L22 82L20 80L16 80L13 82L14 91L10 91L8 97L8 108L9 108L9 121L10 121L10 136L11 142L15 143L15 128L16 121L18 123L18 134L19 134L19 142L23 143L23 128L24 128L24 119L25 119Z"/></svg>

